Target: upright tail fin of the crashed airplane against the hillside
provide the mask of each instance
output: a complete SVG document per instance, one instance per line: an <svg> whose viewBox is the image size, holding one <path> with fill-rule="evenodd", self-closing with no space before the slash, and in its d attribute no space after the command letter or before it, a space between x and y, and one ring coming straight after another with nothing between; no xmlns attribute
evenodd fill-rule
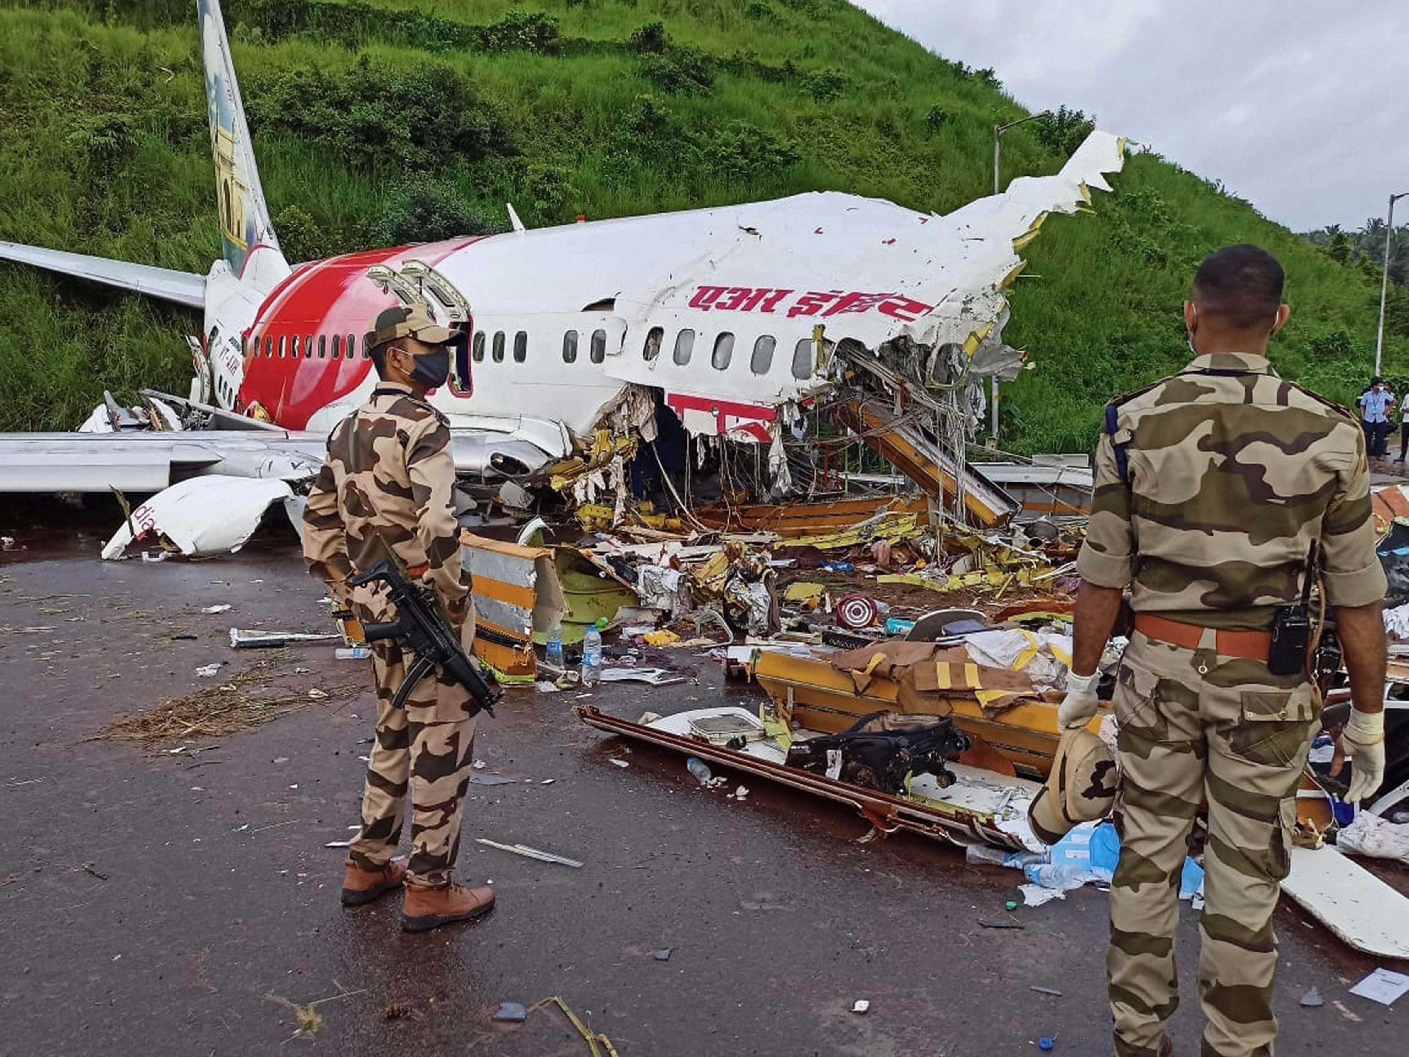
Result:
<svg viewBox="0 0 1409 1057"><path fill-rule="evenodd" d="M216 197L220 240L225 264L237 276L256 247L279 254L279 240L269 220L259 169L249 142L240 83L230 55L230 38L220 0L196 0L200 13L200 47L206 62L206 109L210 116L210 151L216 159ZM285 269L287 265L285 265Z"/></svg>

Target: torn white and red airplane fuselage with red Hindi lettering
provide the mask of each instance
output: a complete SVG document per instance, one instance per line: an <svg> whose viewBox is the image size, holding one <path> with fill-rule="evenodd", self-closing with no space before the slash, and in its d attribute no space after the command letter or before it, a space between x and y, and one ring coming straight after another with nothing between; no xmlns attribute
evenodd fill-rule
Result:
<svg viewBox="0 0 1409 1057"><path fill-rule="evenodd" d="M241 335L235 410L330 428L371 390L356 342L396 303L366 269L414 261L469 306L469 347L433 395L454 426L537 419L581 437L638 386L690 433L766 443L789 406L831 388L838 348L921 390L964 368L975 379L1013 369L1012 357L982 354L1002 348L1014 241L1119 165L1119 142L1096 134L1061 175L944 217L814 193L306 265ZM348 344L351 361L327 358Z"/></svg>

